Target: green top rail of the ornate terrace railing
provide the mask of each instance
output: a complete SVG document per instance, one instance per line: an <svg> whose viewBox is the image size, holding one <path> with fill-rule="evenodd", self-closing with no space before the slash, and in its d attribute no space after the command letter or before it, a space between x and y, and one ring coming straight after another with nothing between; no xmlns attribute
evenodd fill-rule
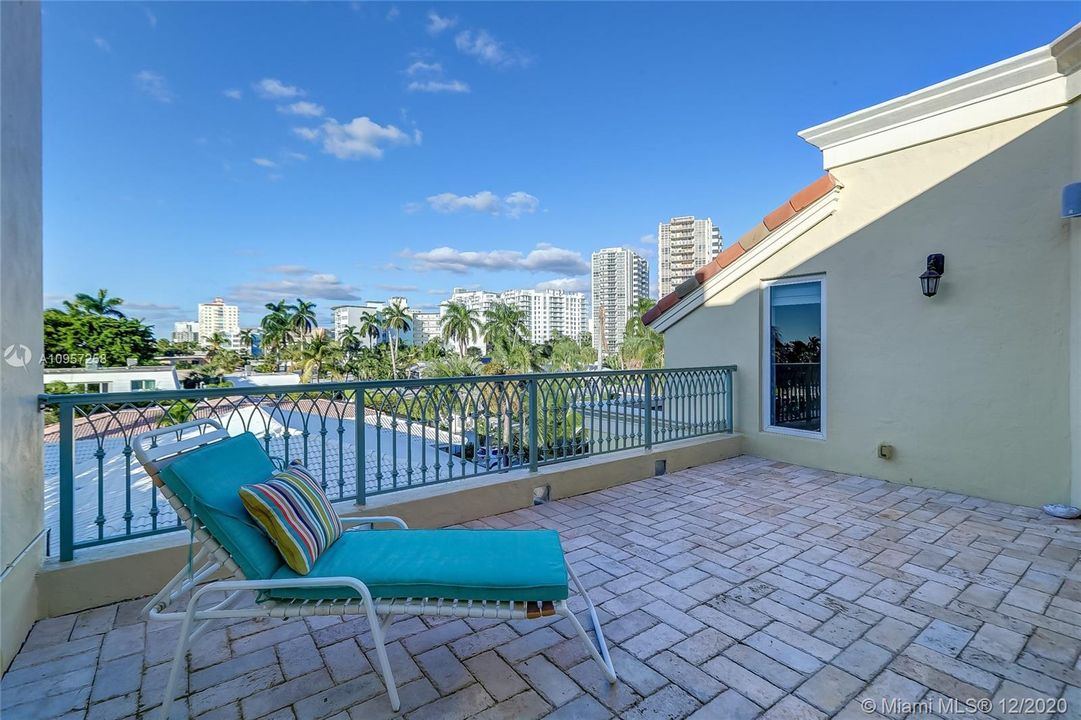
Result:
<svg viewBox="0 0 1081 720"><path fill-rule="evenodd" d="M561 379L571 377L620 377L628 375L663 375L676 372L735 372L735 365L702 365L696 368L655 368L649 370L592 370L559 373L524 373L517 375L463 375L458 377L416 377L403 379L346 381L335 383L307 383L297 385L249 385L241 387L204 387L191 390L133 390L130 392L82 392L71 395L41 394L38 402L46 405L117 404L125 402L154 402L156 400L203 400L250 395L317 394L344 390L381 390L387 388L429 387L433 385L476 385L479 383L515 383L531 379Z"/></svg>

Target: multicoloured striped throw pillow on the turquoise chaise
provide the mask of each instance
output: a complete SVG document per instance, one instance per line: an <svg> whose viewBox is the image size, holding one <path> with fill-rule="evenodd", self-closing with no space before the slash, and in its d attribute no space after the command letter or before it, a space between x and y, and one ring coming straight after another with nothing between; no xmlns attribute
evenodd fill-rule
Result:
<svg viewBox="0 0 1081 720"><path fill-rule="evenodd" d="M240 499L293 572L307 575L342 536L342 521L316 479L299 465L240 488Z"/></svg>

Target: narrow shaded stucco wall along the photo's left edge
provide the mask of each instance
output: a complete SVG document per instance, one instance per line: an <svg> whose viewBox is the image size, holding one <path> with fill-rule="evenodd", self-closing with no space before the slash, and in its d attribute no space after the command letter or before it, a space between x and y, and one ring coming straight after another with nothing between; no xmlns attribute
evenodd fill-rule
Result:
<svg viewBox="0 0 1081 720"><path fill-rule="evenodd" d="M41 6L0 2L0 669L26 638L42 556Z"/></svg>

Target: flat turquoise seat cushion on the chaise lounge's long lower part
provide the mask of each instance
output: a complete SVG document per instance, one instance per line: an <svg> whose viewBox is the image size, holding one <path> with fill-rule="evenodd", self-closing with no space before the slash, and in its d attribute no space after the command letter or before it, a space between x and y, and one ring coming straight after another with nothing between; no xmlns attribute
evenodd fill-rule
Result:
<svg viewBox="0 0 1081 720"><path fill-rule="evenodd" d="M358 530L304 577L360 579L375 598L564 600L566 568L555 530ZM275 579L301 578L282 565ZM271 590L271 598L342 600L349 588Z"/></svg>

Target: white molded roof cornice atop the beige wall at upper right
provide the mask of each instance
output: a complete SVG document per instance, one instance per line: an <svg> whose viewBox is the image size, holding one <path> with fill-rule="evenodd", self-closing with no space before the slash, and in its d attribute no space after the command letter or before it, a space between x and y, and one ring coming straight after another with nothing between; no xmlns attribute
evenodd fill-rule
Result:
<svg viewBox="0 0 1081 720"><path fill-rule="evenodd" d="M853 162L1011 117L1065 105L1065 79L1081 67L1081 23L1053 42L798 133L823 150L825 166ZM1059 81L1056 83L1056 81ZM1002 96L1027 91L1001 102ZM996 101L985 108L972 106ZM948 120L942 116L964 110ZM961 117L963 116L963 117ZM924 122L931 121L931 122ZM912 128L923 122L926 126ZM886 136L891 131L892 136ZM871 142L868 142L872 138ZM841 146L845 146L842 148Z"/></svg>

